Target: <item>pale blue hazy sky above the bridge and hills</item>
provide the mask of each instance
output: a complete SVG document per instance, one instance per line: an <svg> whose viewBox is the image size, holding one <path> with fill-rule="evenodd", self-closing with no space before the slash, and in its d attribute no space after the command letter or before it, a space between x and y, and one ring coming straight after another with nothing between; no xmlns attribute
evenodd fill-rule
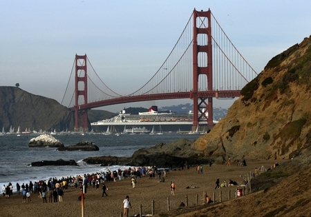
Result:
<svg viewBox="0 0 311 217"><path fill-rule="evenodd" d="M144 85L175 45L194 8L216 17L256 72L311 34L311 1L0 1L0 86L62 102L75 54L88 55L113 90ZM124 73L126 72L126 73ZM229 107L234 100L214 100ZM190 99L102 107L179 105Z"/></svg>

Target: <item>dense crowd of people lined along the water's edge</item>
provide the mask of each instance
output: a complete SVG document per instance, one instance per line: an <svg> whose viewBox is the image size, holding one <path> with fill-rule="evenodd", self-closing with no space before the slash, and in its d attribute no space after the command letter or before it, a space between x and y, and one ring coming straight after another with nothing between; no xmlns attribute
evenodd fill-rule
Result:
<svg viewBox="0 0 311 217"><path fill-rule="evenodd" d="M106 172L97 172L93 174L84 174L83 176L67 176L62 178L49 178L48 180L38 180L29 183L19 183L16 184L16 188L13 187L12 183L8 185L3 185L2 194L6 198L10 198L13 195L13 189L16 190L17 195L23 196L23 203L31 203L31 195L37 194L38 198L43 200L43 203L48 202L62 202L64 196L64 189L68 189L68 186L75 187L76 189L84 189L86 193L87 187L93 186L96 189L100 189L100 183L124 180L130 178L131 185L135 187L137 182L136 178L141 178L142 176L149 176L149 178L158 178L159 181L164 182L166 171L161 172L156 166L153 167L138 167L128 169L117 169L111 172L109 169ZM158 176L157 176L158 175ZM103 185L103 196L106 195L106 185ZM48 200L47 200L48 198Z"/></svg>

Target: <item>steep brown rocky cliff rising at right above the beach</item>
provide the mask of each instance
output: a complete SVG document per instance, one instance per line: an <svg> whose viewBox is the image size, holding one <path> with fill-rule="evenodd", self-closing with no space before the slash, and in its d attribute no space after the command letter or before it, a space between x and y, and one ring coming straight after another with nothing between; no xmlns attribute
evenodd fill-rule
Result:
<svg viewBox="0 0 311 217"><path fill-rule="evenodd" d="M292 158L310 146L311 38L274 56L192 149L205 157Z"/></svg>

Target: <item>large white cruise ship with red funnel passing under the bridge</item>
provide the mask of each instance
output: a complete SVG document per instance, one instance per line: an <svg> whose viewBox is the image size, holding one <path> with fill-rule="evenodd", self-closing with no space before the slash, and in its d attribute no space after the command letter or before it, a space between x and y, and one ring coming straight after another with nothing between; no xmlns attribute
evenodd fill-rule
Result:
<svg viewBox="0 0 311 217"><path fill-rule="evenodd" d="M124 133L153 133L162 132L189 132L194 120L193 112L158 112L158 107L153 105L148 112L126 114L122 110L117 116L91 123L94 132L124 132ZM200 129L207 129L207 124L200 124ZM136 132L135 132L136 131Z"/></svg>

